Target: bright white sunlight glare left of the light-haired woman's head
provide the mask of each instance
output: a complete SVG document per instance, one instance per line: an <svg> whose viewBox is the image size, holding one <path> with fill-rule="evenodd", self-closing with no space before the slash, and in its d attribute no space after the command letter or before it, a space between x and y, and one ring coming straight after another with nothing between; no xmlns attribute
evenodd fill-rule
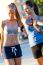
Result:
<svg viewBox="0 0 43 65"><path fill-rule="evenodd" d="M2 20L8 18L7 5L11 2L14 2L14 0L0 0L0 24Z"/></svg>

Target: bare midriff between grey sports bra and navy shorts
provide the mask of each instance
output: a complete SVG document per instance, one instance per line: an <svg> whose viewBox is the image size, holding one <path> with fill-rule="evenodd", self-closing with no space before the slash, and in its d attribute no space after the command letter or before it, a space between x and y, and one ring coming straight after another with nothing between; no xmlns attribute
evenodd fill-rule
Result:
<svg viewBox="0 0 43 65"><path fill-rule="evenodd" d="M14 46L14 45L18 45L18 37L16 34L12 36L4 36L3 46Z"/></svg>

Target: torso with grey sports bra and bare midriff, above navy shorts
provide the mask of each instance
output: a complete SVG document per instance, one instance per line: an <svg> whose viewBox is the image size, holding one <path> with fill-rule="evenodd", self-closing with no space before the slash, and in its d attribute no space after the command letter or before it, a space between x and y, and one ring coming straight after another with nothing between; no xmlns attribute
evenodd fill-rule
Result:
<svg viewBox="0 0 43 65"><path fill-rule="evenodd" d="M4 43L17 43L16 36L18 34L18 23L17 21L11 25L8 20L4 22Z"/></svg>

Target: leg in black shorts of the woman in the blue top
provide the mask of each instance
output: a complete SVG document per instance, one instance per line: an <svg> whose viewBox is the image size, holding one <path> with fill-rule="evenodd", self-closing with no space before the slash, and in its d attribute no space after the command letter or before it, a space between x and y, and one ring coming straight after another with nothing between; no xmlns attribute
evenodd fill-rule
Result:
<svg viewBox="0 0 43 65"><path fill-rule="evenodd" d="M43 65L42 45L32 47L32 53L38 65Z"/></svg>

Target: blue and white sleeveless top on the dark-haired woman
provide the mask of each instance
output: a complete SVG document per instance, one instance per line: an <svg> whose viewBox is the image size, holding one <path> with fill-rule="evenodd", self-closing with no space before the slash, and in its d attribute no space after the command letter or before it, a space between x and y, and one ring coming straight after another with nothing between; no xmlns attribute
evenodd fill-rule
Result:
<svg viewBox="0 0 43 65"><path fill-rule="evenodd" d="M37 16L37 21L40 21L40 17ZM27 19L26 23L30 23L32 20ZM33 26L27 26L28 29L28 37L29 37L29 44L30 47L33 47L37 44L40 44L43 42L43 34L37 32L37 30L35 30L35 28ZM42 27L40 26L40 29L42 29Z"/></svg>

